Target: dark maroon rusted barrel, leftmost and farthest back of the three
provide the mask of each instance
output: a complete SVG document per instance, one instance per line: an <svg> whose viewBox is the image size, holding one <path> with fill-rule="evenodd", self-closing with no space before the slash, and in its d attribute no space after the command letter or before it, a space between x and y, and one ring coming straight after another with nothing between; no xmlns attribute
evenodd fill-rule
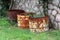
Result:
<svg viewBox="0 0 60 40"><path fill-rule="evenodd" d="M9 21L17 21L17 14L24 13L23 10L8 10L7 17Z"/></svg>

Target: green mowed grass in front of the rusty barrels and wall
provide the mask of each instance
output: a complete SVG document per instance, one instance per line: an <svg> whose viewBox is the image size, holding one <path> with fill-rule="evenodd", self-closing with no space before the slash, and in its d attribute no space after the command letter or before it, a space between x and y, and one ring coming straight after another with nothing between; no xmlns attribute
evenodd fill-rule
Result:
<svg viewBox="0 0 60 40"><path fill-rule="evenodd" d="M7 18L0 18L0 40L60 40L59 30L33 33L29 29L20 29L11 25Z"/></svg>

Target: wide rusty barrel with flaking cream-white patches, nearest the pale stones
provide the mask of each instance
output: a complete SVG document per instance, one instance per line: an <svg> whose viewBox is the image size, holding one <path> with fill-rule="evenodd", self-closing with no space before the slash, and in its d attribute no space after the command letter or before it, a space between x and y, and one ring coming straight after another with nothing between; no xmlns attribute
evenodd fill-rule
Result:
<svg viewBox="0 0 60 40"><path fill-rule="evenodd" d="M29 29L32 32L44 32L49 30L48 17L30 18Z"/></svg>

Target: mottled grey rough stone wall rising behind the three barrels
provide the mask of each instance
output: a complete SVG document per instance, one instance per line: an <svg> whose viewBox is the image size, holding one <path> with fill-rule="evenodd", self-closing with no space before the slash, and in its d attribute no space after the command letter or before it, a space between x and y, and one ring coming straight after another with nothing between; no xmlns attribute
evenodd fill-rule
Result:
<svg viewBox="0 0 60 40"><path fill-rule="evenodd" d="M45 16L43 0L11 0L10 9L36 13L34 18Z"/></svg>

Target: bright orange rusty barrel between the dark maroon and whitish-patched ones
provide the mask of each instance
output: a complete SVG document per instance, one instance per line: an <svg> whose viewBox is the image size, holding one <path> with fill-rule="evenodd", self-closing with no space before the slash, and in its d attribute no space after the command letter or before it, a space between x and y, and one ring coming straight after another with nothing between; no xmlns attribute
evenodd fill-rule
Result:
<svg viewBox="0 0 60 40"><path fill-rule="evenodd" d="M29 28L29 16L17 14L19 28Z"/></svg>

